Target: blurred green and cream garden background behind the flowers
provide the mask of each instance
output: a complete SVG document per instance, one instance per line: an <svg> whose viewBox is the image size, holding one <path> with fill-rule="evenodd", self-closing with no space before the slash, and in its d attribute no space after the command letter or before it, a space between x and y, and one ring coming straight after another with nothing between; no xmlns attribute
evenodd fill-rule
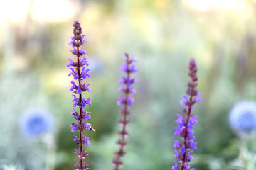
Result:
<svg viewBox="0 0 256 170"><path fill-rule="evenodd" d="M78 161L70 131L72 78L65 65L72 57L68 42L75 19L88 40L92 75L86 94L92 97L87 110L96 130L87 132L91 169L112 169L118 149L124 52L137 57L139 69L124 169L174 165L175 120L182 113L179 101L192 57L203 101L193 109L198 150L190 164L198 170L232 169L241 139L228 114L238 101L256 99L255 5L254 0L1 0L1 169L68 170ZM46 134L20 128L29 109L52 115ZM256 150L253 142L250 147ZM246 169L242 164L236 165Z"/></svg>

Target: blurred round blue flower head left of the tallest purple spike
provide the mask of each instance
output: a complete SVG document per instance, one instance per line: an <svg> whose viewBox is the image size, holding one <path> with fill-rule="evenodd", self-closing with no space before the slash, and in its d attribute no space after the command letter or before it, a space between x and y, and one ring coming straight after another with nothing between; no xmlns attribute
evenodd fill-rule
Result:
<svg viewBox="0 0 256 170"><path fill-rule="evenodd" d="M28 109L20 118L21 131L30 137L38 137L53 127L53 116L41 109Z"/></svg>

